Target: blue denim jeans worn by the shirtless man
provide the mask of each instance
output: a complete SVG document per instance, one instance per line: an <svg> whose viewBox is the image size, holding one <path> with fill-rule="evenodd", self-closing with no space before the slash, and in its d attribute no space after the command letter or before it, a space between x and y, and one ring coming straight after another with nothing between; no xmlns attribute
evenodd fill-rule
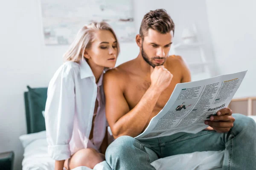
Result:
<svg viewBox="0 0 256 170"><path fill-rule="evenodd" d="M176 133L154 139L137 140L121 136L106 151L107 169L155 170L152 161L195 151L225 150L223 170L256 169L256 123L233 114L235 122L227 133L202 130L199 133Z"/></svg>

